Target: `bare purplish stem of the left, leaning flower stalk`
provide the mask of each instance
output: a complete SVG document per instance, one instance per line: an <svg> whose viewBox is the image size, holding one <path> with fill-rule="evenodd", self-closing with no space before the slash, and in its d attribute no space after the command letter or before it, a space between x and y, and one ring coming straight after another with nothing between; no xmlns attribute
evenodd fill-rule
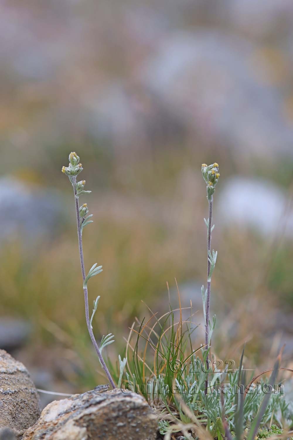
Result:
<svg viewBox="0 0 293 440"><path fill-rule="evenodd" d="M75 199L75 207L76 207L76 222L77 222L77 235L78 235L78 247L80 251L80 266L81 266L81 272L83 275L83 281L86 278L85 268L84 268L84 261L83 261L83 242L81 237L81 229L80 229L80 211L79 211L79 203L78 203L78 197L76 197L76 176L72 177L72 186L74 190L74 199ZM105 373L107 375L107 378L109 379L110 384L113 388L116 388L116 385L111 377L111 374L105 364L105 361L103 359L103 356L101 355L101 351L98 347L98 344L94 338L94 333L90 325L90 317L89 317L89 311L88 311L88 294L87 294L87 287L83 288L84 293L84 304L85 304L85 311L86 311L86 321L87 321L87 329L90 334L90 339L94 345L94 348L96 349L96 352L98 354L98 357L100 359L101 365L105 370Z"/></svg>

